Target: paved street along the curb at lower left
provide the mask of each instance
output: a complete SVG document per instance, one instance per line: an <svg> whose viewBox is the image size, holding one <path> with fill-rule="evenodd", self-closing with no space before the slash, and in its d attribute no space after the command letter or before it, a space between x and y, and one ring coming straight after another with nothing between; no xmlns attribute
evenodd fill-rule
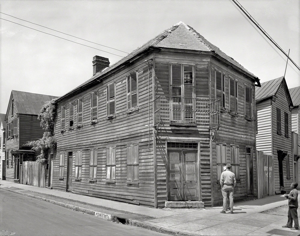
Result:
<svg viewBox="0 0 300 236"><path fill-rule="evenodd" d="M1 231L15 235L164 235L0 189Z"/></svg>

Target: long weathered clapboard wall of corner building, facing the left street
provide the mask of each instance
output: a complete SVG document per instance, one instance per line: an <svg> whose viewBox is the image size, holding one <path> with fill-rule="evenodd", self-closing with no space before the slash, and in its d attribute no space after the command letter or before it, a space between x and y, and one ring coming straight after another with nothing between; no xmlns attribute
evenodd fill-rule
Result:
<svg viewBox="0 0 300 236"><path fill-rule="evenodd" d="M55 137L58 140L57 154L54 159L53 188L66 190L67 152L82 150L82 178L72 181L72 191L107 199L114 199L133 204L154 206L154 170L152 132L152 66L149 68L143 60L112 74L98 86L89 88L80 94L58 103L58 114L55 119ZM138 71L138 109L127 111L126 76ZM116 83L116 117L108 119L106 113L106 86ZM150 85L148 88L148 84ZM91 92L98 91L98 120L91 123ZM150 95L149 95L150 92ZM60 132L61 106L67 105L66 117L69 117L69 103L83 97L83 124L68 127ZM75 106L76 107L76 106ZM150 111L149 111L150 109ZM76 114L76 108L75 114ZM150 121L149 121L150 119ZM150 139L150 140L149 140ZM127 145L139 143L139 184L127 183ZM149 145L150 144L150 145ZM116 146L116 182L106 182L106 148ZM149 146L149 148L148 148ZM97 181L90 182L89 158L90 149L98 149ZM65 154L64 179L59 180L59 153ZM73 158L73 176L75 158Z"/></svg>

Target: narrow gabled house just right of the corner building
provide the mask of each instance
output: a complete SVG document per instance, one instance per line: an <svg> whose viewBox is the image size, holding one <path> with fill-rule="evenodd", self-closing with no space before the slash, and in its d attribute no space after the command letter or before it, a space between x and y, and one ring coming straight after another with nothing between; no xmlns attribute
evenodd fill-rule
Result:
<svg viewBox="0 0 300 236"><path fill-rule="evenodd" d="M293 181L292 126L293 103L285 78L256 87L256 149L273 155L275 193L290 190ZM273 193L273 194L275 194Z"/></svg>

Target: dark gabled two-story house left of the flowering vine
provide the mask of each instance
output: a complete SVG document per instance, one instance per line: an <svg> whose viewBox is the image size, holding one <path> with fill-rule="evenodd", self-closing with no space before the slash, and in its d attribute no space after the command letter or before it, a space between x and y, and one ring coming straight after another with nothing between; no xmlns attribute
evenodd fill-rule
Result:
<svg viewBox="0 0 300 236"><path fill-rule="evenodd" d="M43 137L38 114L54 96L12 90L5 115L6 121L6 180L19 182L20 164L35 161L39 152L24 146L28 141Z"/></svg>

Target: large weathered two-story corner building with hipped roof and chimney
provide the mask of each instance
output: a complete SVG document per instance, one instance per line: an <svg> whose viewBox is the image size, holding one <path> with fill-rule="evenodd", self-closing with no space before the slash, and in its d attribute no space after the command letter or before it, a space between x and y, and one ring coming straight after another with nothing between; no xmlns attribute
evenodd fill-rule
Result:
<svg viewBox="0 0 300 236"><path fill-rule="evenodd" d="M107 66L55 102L54 189L214 206L231 163L235 199L256 193L256 76L183 22Z"/></svg>

